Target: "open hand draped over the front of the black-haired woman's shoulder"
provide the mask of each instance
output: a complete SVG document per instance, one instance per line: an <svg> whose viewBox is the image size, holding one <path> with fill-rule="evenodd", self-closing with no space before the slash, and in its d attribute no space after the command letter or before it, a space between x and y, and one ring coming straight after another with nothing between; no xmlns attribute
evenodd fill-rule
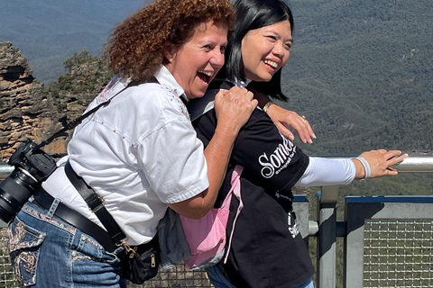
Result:
<svg viewBox="0 0 433 288"><path fill-rule="evenodd" d="M290 126L296 130L299 134L299 139L304 143L312 144L312 139L316 139L316 135L309 125L309 121L306 120L305 117L299 116L297 112L286 110L276 104L269 106L267 112L281 134L288 139L294 140L295 136L286 126Z"/></svg>

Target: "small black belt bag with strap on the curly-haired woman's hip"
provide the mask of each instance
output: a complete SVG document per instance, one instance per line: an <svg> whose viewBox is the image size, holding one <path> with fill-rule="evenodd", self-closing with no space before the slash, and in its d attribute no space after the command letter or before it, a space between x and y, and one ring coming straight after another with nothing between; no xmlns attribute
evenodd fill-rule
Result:
<svg viewBox="0 0 433 288"><path fill-rule="evenodd" d="M115 219L106 210L104 202L95 191L78 176L69 164L65 166L65 173L71 184L88 203L88 207L97 215L97 218L104 225L116 247L124 247L118 257L121 259L121 267L124 277L134 284L143 284L144 281L158 275L160 266L160 247L158 237L155 236L149 243L130 247L125 241L124 232L119 228Z"/></svg>

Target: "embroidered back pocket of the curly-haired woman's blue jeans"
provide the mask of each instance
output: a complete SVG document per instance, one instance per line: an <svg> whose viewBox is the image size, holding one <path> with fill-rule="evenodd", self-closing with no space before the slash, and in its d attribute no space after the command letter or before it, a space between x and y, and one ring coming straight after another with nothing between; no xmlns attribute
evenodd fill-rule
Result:
<svg viewBox="0 0 433 288"><path fill-rule="evenodd" d="M24 286L36 284L39 248L45 233L25 225L18 217L9 225L8 233L11 262L18 281Z"/></svg>

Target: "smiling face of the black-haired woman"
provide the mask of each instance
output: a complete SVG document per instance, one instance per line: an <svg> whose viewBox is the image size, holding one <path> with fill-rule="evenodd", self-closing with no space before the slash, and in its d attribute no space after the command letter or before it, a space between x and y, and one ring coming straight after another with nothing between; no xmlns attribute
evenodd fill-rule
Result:
<svg viewBox="0 0 433 288"><path fill-rule="evenodd" d="M268 82L290 56L289 21L248 31L242 40L244 74L253 81Z"/></svg>

